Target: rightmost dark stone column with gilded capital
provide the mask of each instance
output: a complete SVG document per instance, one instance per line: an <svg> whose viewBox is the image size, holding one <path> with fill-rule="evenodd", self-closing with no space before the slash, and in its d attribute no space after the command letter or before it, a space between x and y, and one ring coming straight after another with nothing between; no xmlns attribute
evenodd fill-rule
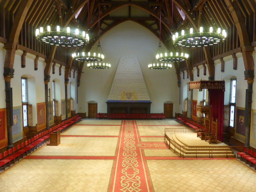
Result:
<svg viewBox="0 0 256 192"><path fill-rule="evenodd" d="M250 132L251 132L251 112L252 112L252 84L254 79L254 70L244 71L244 80L247 80L244 125L245 130L245 147L250 147Z"/></svg>

